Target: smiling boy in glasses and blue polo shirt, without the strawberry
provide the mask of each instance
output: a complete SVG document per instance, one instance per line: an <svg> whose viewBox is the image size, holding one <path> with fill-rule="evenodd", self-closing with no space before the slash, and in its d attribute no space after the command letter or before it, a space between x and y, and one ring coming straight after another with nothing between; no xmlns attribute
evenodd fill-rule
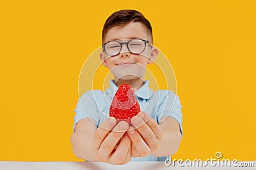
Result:
<svg viewBox="0 0 256 170"><path fill-rule="evenodd" d="M150 23L138 11L116 11L104 24L102 43L100 59L114 80L105 92L86 92L77 103L71 136L76 157L109 164L164 161L177 151L182 138L182 106L172 91L153 92L143 80L147 64L158 54L151 45ZM141 107L131 126L125 121L116 124L115 118L108 117L109 104L123 83L137 90Z"/></svg>

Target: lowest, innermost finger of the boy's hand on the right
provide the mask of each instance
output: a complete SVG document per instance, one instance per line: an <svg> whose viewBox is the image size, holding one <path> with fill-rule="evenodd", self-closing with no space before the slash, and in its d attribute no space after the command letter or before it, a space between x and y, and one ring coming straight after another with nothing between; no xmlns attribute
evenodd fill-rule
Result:
<svg viewBox="0 0 256 170"><path fill-rule="evenodd" d="M141 138L140 133L134 129L134 127L130 126L127 133L132 141L132 144L136 148L139 157L145 157L150 153L150 148L145 143L145 141Z"/></svg>

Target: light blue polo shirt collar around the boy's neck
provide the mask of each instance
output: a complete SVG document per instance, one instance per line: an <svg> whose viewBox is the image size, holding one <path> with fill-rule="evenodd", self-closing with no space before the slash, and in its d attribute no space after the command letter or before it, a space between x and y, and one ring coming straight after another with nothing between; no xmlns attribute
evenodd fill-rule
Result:
<svg viewBox="0 0 256 170"><path fill-rule="evenodd" d="M118 87L116 87L114 80L109 80L109 85L110 87L107 89L107 92L109 95L111 95L111 98L113 98L116 94ZM148 85L149 81L145 80L144 85L139 90L134 92L135 96L141 99L150 99L150 97L152 97L154 93L154 90L149 89Z"/></svg>

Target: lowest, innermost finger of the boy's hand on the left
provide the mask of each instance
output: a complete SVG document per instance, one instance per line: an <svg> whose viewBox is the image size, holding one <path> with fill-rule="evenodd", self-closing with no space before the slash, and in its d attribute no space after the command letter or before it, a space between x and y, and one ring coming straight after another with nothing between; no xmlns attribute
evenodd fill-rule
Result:
<svg viewBox="0 0 256 170"><path fill-rule="evenodd" d="M129 136L127 136L127 134L124 134L123 138L120 141L120 144L116 148L116 151L113 153L113 155L111 155L110 162L112 164L120 164L121 162L124 162L125 156L127 155L130 146L131 139L129 138Z"/></svg>

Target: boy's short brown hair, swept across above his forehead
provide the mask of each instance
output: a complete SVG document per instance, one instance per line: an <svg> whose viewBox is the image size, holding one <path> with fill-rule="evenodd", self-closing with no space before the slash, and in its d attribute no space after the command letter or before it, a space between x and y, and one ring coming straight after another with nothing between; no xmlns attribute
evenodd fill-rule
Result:
<svg viewBox="0 0 256 170"><path fill-rule="evenodd" d="M120 25L126 25L130 22L140 22L141 24L145 25L153 41L152 27L150 22L147 20L147 18L144 17L142 13L136 10L120 10L112 13L112 15L110 15L106 20L102 29L102 43L104 42L104 38L109 29Z"/></svg>

